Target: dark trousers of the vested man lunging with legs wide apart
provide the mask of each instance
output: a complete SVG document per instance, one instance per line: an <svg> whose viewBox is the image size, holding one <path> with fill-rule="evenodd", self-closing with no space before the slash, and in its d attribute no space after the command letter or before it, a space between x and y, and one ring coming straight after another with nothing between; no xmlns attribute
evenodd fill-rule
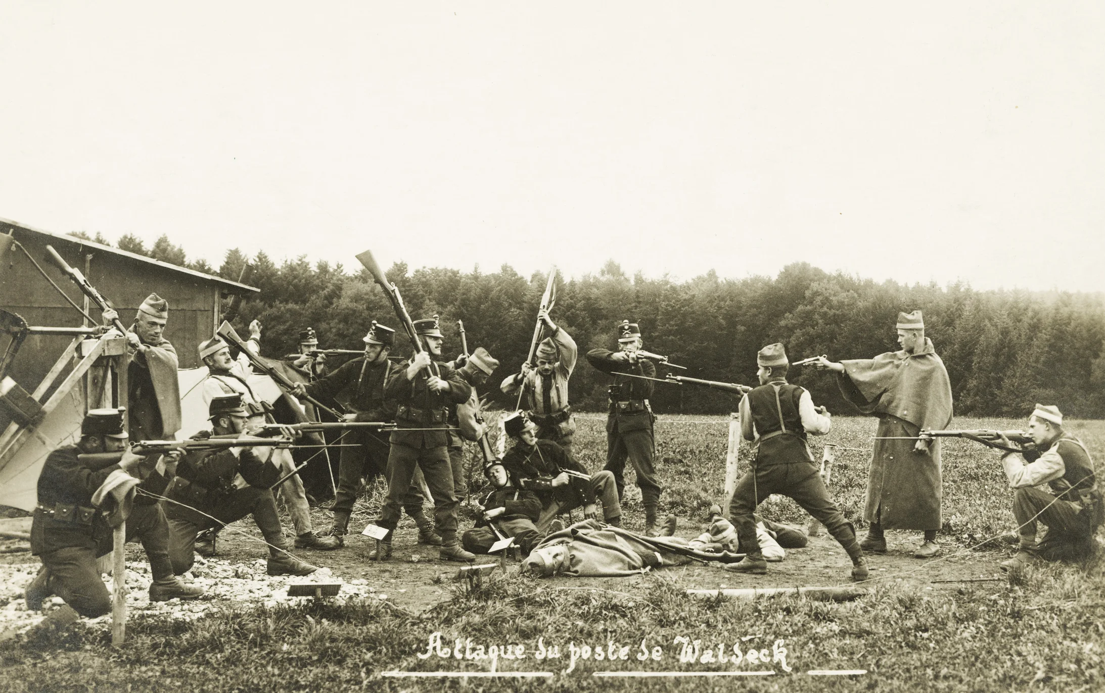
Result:
<svg viewBox="0 0 1105 693"><path fill-rule="evenodd" d="M802 510L824 525L849 556L857 558L863 555L855 541L855 529L832 502L819 472L813 462L782 462L756 467L737 481L729 502L729 521L737 530L740 546L755 547L755 553L750 551L749 556L759 555L756 520L753 515L759 504L772 493L793 499Z"/></svg>

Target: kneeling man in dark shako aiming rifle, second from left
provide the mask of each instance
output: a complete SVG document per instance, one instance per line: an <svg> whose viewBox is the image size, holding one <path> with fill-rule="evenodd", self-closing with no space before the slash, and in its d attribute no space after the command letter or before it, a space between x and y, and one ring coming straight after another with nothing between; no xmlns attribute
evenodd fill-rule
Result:
<svg viewBox="0 0 1105 693"><path fill-rule="evenodd" d="M212 397L208 412L212 429L199 431L193 439L261 433L249 429L250 413L239 393ZM222 529L246 515L253 515L269 543L269 575L309 575L318 569L288 552L270 490L281 478L273 452L270 447L242 447L190 452L180 459L165 504L169 558L177 575L192 567L200 532Z"/></svg>

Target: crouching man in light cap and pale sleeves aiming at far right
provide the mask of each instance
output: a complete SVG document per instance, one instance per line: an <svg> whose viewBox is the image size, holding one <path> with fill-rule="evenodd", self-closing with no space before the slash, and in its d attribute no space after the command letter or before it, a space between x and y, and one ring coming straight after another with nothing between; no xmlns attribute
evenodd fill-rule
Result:
<svg viewBox="0 0 1105 693"><path fill-rule="evenodd" d="M1085 444L1063 430L1063 413L1055 406L1035 405L1029 418L1035 449L1001 457L1013 492L1013 516L1020 527L1017 555L1001 564L1019 571L1036 559L1077 561L1094 553L1094 535L1105 521L1105 504ZM1000 443L1009 448L1008 438ZM1035 487L1046 483L1051 492ZM1036 544L1036 523L1048 534Z"/></svg>

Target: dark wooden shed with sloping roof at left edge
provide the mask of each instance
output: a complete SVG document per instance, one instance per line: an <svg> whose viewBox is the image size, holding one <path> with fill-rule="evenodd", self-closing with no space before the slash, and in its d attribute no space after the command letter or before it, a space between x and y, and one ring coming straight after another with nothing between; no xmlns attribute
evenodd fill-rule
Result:
<svg viewBox="0 0 1105 693"><path fill-rule="evenodd" d="M32 228L0 218L0 234L10 234L41 266L42 270L92 317L99 310L88 307L73 281L48 259L49 244L119 311L124 324L130 324L138 306L150 294L169 303L165 337L177 348L181 369L197 367L197 346L214 334L221 321L221 299L257 289L206 275L187 267L162 263L98 243L61 233ZM18 247L4 243L0 252L0 307L20 314L31 326L77 327L86 320L52 287L34 264ZM32 334L27 338L8 372L17 383L31 391L49 372L69 345L71 338Z"/></svg>

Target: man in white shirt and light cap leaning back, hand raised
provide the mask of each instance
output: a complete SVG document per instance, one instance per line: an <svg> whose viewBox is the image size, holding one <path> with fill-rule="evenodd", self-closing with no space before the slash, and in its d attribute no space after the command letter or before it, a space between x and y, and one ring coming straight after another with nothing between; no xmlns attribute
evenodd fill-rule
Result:
<svg viewBox="0 0 1105 693"><path fill-rule="evenodd" d="M245 343L246 349L253 353L261 351L261 323L254 320L250 323L250 339ZM221 338L214 337L203 342L199 346L200 361L208 367L208 376L203 381L203 404L211 406L211 401L219 395L240 394L246 411L250 413L249 425L260 427L264 424L275 423L270 413L271 406L257 397L250 386L249 379L253 369L250 359L244 353L238 354L234 359L230 355L230 346ZM295 469L295 460L290 450L274 450L274 459L280 462L282 473ZM307 502L307 493L303 488L303 480L298 475L291 475L280 486L278 493L292 516L292 524L295 526L296 548L317 548L332 551L341 545L336 536L319 536L314 531L311 521L311 507ZM200 555L214 553L214 536L210 534L210 546L197 546Z"/></svg>

